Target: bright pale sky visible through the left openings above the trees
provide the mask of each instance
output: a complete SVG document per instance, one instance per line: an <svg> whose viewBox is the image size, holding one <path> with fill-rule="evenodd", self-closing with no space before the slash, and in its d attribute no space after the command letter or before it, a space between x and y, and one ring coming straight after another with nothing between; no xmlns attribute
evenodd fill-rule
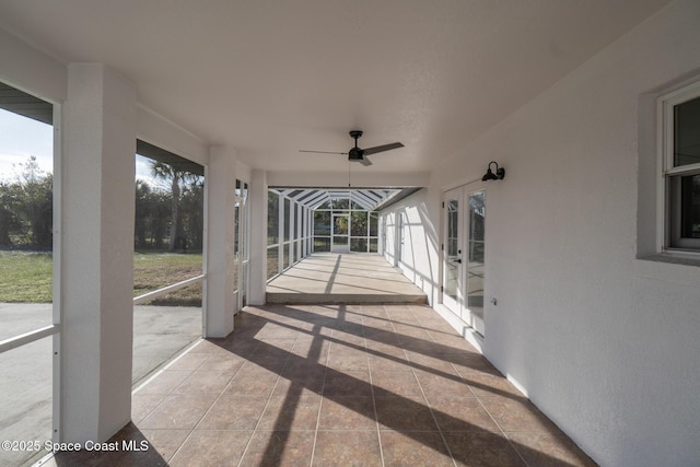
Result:
<svg viewBox="0 0 700 467"><path fill-rule="evenodd" d="M54 172L52 154L54 128L50 125L0 108L0 182L15 179L22 172L20 164L32 155L36 156L42 171ZM148 161L137 154L137 178L154 186L163 185L162 180L153 180Z"/></svg>

